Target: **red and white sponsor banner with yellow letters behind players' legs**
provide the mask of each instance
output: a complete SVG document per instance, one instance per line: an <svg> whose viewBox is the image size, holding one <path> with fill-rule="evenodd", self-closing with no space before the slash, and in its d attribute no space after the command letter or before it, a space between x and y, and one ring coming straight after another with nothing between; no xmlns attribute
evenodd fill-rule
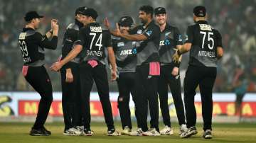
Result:
<svg viewBox="0 0 256 143"><path fill-rule="evenodd" d="M117 108L118 93L110 93L112 103L112 113L114 117L119 116ZM0 92L0 117L9 115L36 115L40 96L36 92ZM215 115L236 115L235 114L235 94L234 93L213 93L213 116ZM170 115L176 116L174 101L169 93ZM202 114L201 98L197 93L195 96L196 113ZM134 103L132 97L129 103L132 117L134 114ZM159 110L161 115L161 110ZM90 96L90 112L92 116L103 117L102 105L96 92ZM248 93L243 98L241 113L245 117L256 117L256 93ZM53 93L53 103L50 107L49 115L63 116L61 93Z"/></svg>

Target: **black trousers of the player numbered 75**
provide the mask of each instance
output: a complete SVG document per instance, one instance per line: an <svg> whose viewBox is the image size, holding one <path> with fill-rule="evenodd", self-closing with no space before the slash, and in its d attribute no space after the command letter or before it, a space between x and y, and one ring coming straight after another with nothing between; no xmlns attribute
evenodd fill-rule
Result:
<svg viewBox="0 0 256 143"><path fill-rule="evenodd" d="M184 79L184 103L187 127L196 125L194 96L196 95L196 87L199 84L202 101L203 130L211 130L213 115L213 85L216 79L216 74L216 67L188 66Z"/></svg>

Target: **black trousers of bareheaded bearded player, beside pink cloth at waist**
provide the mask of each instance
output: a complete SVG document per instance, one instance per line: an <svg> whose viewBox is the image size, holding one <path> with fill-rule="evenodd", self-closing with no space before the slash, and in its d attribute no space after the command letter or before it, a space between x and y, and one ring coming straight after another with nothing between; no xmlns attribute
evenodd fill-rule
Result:
<svg viewBox="0 0 256 143"><path fill-rule="evenodd" d="M159 76L149 76L149 64L137 66L134 101L137 110L138 127L148 130L147 113L150 110L150 127L159 131L159 101L157 84Z"/></svg>

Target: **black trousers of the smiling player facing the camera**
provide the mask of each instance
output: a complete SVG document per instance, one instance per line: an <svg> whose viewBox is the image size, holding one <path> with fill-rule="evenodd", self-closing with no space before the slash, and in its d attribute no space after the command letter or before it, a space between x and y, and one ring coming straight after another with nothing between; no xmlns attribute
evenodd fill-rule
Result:
<svg viewBox="0 0 256 143"><path fill-rule="evenodd" d="M174 99L178 124L186 124L184 106L181 97L181 79L179 74L177 76L173 76L171 74L173 69L173 64L161 66L161 74L159 77L158 86L161 114L164 120L164 125L168 125L169 127L171 127L171 121L168 104L168 86L171 89L171 96Z"/></svg>

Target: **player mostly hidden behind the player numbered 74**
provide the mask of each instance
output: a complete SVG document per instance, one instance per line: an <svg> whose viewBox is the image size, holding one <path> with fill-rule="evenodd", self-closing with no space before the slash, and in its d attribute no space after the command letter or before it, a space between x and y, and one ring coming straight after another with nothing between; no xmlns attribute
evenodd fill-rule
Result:
<svg viewBox="0 0 256 143"><path fill-rule="evenodd" d="M82 12L85 8L85 6L82 6L75 10L75 22L70 23L65 31L61 59L68 55L73 49L74 42L78 40L78 31L84 26L82 23ZM80 56L75 57L75 59L60 69L63 117L65 123L64 135L80 135L83 129L79 62Z"/></svg>

